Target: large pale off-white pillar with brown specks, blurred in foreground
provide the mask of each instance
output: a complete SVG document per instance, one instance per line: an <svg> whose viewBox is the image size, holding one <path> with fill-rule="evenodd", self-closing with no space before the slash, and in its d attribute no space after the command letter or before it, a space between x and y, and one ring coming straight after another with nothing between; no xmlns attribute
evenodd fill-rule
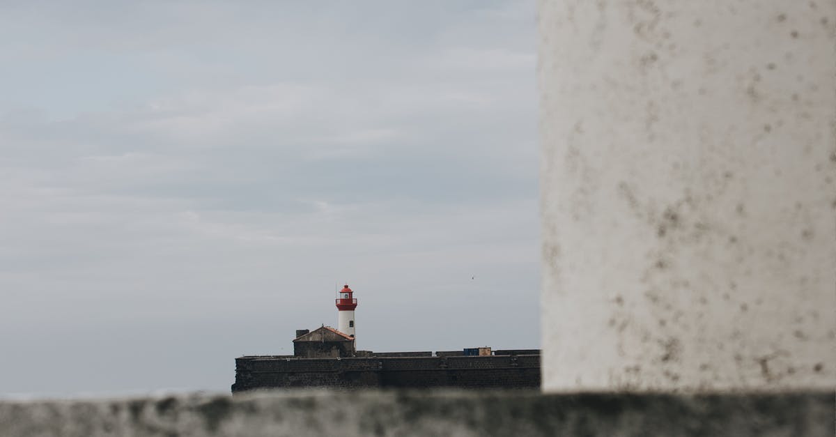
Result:
<svg viewBox="0 0 836 437"><path fill-rule="evenodd" d="M836 386L836 2L538 27L543 388Z"/></svg>

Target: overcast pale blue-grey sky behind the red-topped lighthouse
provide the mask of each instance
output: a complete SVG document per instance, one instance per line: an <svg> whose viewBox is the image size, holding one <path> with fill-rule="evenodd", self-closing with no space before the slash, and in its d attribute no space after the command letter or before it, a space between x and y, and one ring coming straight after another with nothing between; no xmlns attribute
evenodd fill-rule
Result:
<svg viewBox="0 0 836 437"><path fill-rule="evenodd" d="M534 30L532 0L4 2L0 397L228 392L344 281L359 349L538 347Z"/></svg>

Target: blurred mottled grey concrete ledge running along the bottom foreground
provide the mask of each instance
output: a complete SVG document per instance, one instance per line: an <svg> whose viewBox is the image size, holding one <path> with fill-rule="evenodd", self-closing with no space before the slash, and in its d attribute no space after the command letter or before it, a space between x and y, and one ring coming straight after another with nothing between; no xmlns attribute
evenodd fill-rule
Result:
<svg viewBox="0 0 836 437"><path fill-rule="evenodd" d="M3 436L833 436L834 393L296 392L0 403Z"/></svg>

